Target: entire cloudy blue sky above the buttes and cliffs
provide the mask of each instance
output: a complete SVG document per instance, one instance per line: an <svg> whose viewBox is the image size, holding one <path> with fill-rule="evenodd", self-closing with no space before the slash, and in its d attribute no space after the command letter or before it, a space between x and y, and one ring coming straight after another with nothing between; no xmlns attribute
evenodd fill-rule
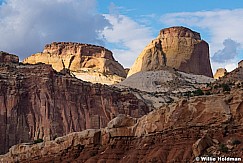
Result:
<svg viewBox="0 0 243 163"><path fill-rule="evenodd" d="M21 59L53 41L105 46L130 67L159 30L186 26L210 45L213 70L243 59L242 0L0 0L0 50Z"/></svg>

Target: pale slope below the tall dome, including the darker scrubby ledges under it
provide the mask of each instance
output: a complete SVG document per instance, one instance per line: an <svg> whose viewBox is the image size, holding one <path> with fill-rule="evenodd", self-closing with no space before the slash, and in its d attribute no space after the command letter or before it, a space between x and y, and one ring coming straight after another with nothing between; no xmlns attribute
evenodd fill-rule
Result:
<svg viewBox="0 0 243 163"><path fill-rule="evenodd" d="M138 72L114 86L123 91L129 90L153 108L159 108L180 100L187 92L203 89L214 81L215 79L204 75L188 74L165 67L157 71Z"/></svg>

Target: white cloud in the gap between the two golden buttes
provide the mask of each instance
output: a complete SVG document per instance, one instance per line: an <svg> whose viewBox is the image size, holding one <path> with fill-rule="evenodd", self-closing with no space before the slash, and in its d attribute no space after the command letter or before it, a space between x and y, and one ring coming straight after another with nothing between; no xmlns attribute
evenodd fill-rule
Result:
<svg viewBox="0 0 243 163"><path fill-rule="evenodd" d="M145 46L153 39L150 28L124 15L105 15L112 28L105 28L104 38L113 47L115 58L124 66L131 67Z"/></svg>

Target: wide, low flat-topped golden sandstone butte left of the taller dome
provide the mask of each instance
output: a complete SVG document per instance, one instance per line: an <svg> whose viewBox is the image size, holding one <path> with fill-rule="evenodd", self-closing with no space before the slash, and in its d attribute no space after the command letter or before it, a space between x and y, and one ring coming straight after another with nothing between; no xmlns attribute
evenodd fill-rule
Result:
<svg viewBox="0 0 243 163"><path fill-rule="evenodd" d="M52 65L56 71L68 69L77 78L93 83L114 84L127 75L110 50L90 44L53 42L47 44L43 52L23 61L30 64L40 62Z"/></svg>

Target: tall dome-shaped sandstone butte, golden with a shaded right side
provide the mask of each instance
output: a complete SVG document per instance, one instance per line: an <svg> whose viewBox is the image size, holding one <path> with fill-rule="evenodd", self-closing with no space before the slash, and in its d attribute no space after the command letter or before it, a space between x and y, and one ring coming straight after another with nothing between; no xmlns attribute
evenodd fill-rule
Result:
<svg viewBox="0 0 243 163"><path fill-rule="evenodd" d="M185 27L162 29L152 40L128 72L159 70L169 66L179 71L213 77L208 43L199 33Z"/></svg>

